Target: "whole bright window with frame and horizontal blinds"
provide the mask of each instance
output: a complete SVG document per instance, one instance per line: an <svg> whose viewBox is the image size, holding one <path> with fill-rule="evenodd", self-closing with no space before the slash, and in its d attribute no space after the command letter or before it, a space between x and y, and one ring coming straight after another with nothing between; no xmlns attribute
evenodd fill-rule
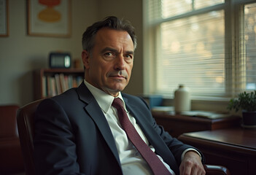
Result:
<svg viewBox="0 0 256 175"><path fill-rule="evenodd" d="M230 98L256 89L256 3L145 0L146 93Z"/></svg>

